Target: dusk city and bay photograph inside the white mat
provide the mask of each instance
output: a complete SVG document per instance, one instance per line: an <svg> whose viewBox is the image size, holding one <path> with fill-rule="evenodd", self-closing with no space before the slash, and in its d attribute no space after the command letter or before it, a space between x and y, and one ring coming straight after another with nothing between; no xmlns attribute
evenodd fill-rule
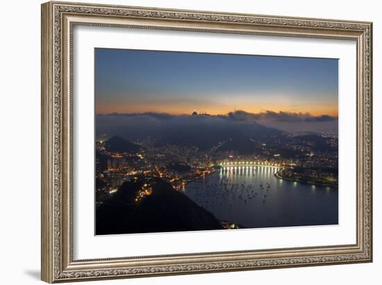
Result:
<svg viewBox="0 0 382 285"><path fill-rule="evenodd" d="M94 48L96 235L338 225L338 59Z"/></svg>

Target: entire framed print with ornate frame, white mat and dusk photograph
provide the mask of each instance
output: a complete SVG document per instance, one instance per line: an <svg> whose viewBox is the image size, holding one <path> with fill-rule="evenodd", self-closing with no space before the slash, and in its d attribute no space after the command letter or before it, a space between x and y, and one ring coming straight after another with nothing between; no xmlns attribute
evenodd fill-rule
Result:
<svg viewBox="0 0 382 285"><path fill-rule="evenodd" d="M42 280L372 261L372 23L42 4Z"/></svg>

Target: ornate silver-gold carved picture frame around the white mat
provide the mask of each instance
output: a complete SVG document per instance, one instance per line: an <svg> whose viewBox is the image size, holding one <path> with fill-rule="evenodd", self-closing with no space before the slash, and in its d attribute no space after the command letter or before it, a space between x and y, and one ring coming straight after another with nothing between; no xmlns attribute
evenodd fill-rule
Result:
<svg viewBox="0 0 382 285"><path fill-rule="evenodd" d="M74 260L72 30L76 25L356 41L356 244ZM83 3L42 4L42 280L50 283L71 282L371 261L372 23Z"/></svg>

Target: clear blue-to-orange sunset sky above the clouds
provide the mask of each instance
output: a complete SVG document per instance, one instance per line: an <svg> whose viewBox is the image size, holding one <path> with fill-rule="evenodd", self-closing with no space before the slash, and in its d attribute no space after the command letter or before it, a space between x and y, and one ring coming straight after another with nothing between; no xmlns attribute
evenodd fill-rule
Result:
<svg viewBox="0 0 382 285"><path fill-rule="evenodd" d="M95 49L96 113L338 116L338 60Z"/></svg>

